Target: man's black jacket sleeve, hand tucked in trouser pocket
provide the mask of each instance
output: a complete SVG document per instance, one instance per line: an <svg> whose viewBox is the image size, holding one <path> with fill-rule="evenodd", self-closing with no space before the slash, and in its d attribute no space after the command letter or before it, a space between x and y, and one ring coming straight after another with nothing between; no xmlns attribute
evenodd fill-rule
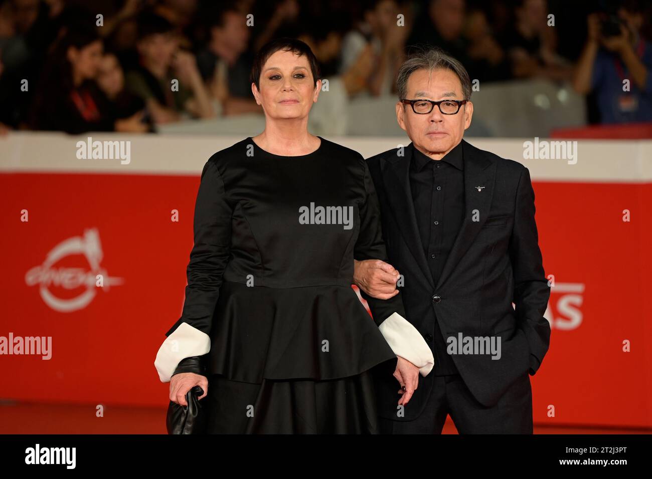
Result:
<svg viewBox="0 0 652 479"><path fill-rule="evenodd" d="M516 191L514 229L509 242L514 274L514 304L518 327L529 345L529 373L534 375L550 345L550 323L543 317L550 298L539 235L535 222L534 190L529 170L524 167Z"/></svg>

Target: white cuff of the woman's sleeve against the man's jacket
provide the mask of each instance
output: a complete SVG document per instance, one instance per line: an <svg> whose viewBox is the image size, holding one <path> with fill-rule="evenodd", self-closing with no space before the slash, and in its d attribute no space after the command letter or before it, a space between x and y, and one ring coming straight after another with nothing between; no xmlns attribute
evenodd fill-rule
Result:
<svg viewBox="0 0 652 479"><path fill-rule="evenodd" d="M435 366L430 346L417 328L400 314L394 312L378 327L385 341L396 356L406 358L419 368L422 376L427 376Z"/></svg>

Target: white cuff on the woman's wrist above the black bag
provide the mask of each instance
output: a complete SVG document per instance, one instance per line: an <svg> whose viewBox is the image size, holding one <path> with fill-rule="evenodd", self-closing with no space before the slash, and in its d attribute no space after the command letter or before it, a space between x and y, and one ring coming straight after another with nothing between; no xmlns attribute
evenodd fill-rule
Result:
<svg viewBox="0 0 652 479"><path fill-rule="evenodd" d="M158 348L154 361L158 377L162 383L167 383L182 359L205 355L209 351L211 337L188 323L181 323Z"/></svg>

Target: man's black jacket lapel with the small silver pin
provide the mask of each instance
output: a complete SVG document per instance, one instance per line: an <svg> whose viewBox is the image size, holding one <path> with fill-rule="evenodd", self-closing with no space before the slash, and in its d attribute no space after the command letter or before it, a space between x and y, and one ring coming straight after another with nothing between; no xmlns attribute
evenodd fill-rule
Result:
<svg viewBox="0 0 652 479"><path fill-rule="evenodd" d="M473 243L486 221L494 195L496 163L479 154L475 147L462 139L464 158L464 220L437 281L436 290L448 279L460 259ZM479 189L477 187L480 187ZM478 221L473 221L477 211ZM418 234L418 233L417 233Z"/></svg>

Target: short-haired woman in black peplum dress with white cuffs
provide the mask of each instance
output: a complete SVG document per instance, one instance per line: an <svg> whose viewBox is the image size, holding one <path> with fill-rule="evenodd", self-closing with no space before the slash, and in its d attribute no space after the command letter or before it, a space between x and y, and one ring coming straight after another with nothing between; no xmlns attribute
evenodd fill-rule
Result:
<svg viewBox="0 0 652 479"><path fill-rule="evenodd" d="M400 293L368 299L374 324L351 288L354 258L387 260L379 205L361 154L308 133L318 78L303 42L263 47L265 130L201 173L183 313L155 366L181 405L208 388L209 433L377 433L372 368L398 363L398 390L434 365Z"/></svg>

